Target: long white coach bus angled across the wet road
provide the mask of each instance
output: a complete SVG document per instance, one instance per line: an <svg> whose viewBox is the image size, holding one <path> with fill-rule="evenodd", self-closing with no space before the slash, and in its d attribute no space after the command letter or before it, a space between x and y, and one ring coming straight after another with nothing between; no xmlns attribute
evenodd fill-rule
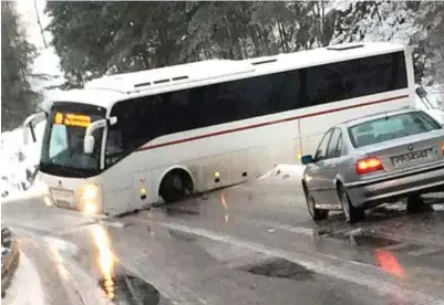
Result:
<svg viewBox="0 0 444 305"><path fill-rule="evenodd" d="M335 45L94 80L47 117L37 179L52 203L115 215L257 178L333 124L414 105L403 45Z"/></svg>

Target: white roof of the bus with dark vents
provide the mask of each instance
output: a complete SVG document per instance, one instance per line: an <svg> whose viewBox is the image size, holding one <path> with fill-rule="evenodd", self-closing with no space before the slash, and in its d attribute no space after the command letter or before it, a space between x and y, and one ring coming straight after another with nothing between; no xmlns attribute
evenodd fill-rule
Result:
<svg viewBox="0 0 444 305"><path fill-rule="evenodd" d="M145 95L184 90L210 83L258 76L379 55L405 49L384 42L339 44L273 56L241 61L207 60L147 71L114 74L89 82L83 90L63 92L58 101L87 103L110 108L116 102ZM95 97L96 96L96 97Z"/></svg>

